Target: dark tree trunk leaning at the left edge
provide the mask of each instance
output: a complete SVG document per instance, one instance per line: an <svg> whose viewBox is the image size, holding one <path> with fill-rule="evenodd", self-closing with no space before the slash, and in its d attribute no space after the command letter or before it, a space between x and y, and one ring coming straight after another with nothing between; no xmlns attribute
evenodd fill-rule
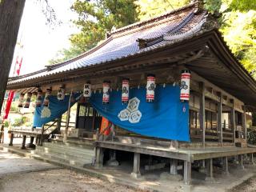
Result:
<svg viewBox="0 0 256 192"><path fill-rule="evenodd" d="M26 0L0 0L0 109Z"/></svg>

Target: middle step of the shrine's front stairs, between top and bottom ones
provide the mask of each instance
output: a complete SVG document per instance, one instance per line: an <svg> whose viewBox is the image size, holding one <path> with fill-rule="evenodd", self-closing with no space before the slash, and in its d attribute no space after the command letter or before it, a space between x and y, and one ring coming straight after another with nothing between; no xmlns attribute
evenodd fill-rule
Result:
<svg viewBox="0 0 256 192"><path fill-rule="evenodd" d="M56 150L52 148L48 148L45 146L37 147L36 151L46 153L46 154L60 154L66 155L72 158L80 158L80 159L91 159L94 157L94 151L90 151L90 153L81 154L79 152L70 152L69 150Z"/></svg>

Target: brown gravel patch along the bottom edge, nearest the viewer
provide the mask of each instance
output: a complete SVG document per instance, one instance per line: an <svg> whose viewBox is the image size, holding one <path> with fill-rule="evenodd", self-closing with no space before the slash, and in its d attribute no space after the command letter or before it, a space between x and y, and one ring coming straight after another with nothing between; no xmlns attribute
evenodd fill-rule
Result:
<svg viewBox="0 0 256 192"><path fill-rule="evenodd" d="M71 170L46 170L6 174L0 178L1 192L135 192L114 183L102 181Z"/></svg>

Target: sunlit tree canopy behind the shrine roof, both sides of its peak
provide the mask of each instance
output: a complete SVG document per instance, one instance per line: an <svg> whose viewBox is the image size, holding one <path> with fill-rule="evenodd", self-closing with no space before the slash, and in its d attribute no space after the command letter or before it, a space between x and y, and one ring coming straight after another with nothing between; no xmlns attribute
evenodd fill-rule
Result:
<svg viewBox="0 0 256 192"><path fill-rule="evenodd" d="M220 32L232 53L256 78L256 0L203 0L206 10L220 15ZM190 0L77 0L71 7L78 13L74 23L81 30L70 37L70 50L58 53L61 62L81 54L105 38L107 31L152 18L188 4Z"/></svg>

